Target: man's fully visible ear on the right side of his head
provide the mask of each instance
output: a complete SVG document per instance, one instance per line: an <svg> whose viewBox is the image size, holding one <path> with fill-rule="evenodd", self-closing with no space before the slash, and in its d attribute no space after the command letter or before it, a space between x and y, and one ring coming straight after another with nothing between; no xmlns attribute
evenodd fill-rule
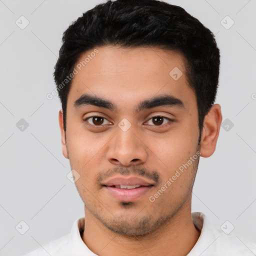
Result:
<svg viewBox="0 0 256 256"><path fill-rule="evenodd" d="M215 151L221 121L221 107L219 104L214 104L204 117L200 146L201 156L209 157Z"/></svg>

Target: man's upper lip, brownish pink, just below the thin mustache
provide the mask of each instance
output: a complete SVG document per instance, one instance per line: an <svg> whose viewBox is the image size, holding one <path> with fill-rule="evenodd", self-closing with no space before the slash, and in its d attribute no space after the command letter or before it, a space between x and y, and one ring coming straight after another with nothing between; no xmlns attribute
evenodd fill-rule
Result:
<svg viewBox="0 0 256 256"><path fill-rule="evenodd" d="M106 182L104 182L102 185L105 186L115 186L115 185L141 185L141 186L149 186L149 185L153 185L152 182L148 182L142 178L139 177L129 177L129 178L124 178L124 177L114 177L111 178L109 180L107 180Z"/></svg>

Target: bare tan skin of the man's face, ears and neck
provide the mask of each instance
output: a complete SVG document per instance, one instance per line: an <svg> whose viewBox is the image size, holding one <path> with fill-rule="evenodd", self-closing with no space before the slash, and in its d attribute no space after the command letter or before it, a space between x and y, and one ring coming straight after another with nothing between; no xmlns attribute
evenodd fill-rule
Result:
<svg viewBox="0 0 256 256"><path fill-rule="evenodd" d="M196 95L188 86L182 55L155 47L97 49L98 54L72 80L66 132L59 111L62 153L80 175L75 185L85 205L82 239L98 255L186 255L200 235L191 217L199 157L155 201L148 198L196 152L203 157L213 154L222 120L220 105L214 104L205 116L198 146ZM84 52L77 62L90 52ZM178 80L169 75L174 67L183 72ZM110 100L117 109L75 108L74 101L83 93ZM161 94L181 99L184 108L157 106L134 112L140 101ZM104 122L84 121L95 115L104 117ZM153 122L152 117L159 115L173 121ZM118 126L123 118L131 124L125 132ZM139 175L142 169L149 177L157 173L157 182ZM106 180L120 173L140 176L154 186L124 205L98 182L99 177Z"/></svg>

